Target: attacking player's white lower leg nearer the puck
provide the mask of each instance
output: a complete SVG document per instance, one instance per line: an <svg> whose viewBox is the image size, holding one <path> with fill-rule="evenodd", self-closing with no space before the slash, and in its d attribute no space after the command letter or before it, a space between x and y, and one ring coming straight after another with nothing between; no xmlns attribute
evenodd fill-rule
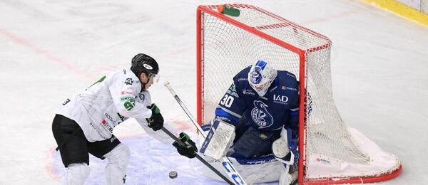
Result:
<svg viewBox="0 0 428 185"><path fill-rule="evenodd" d="M126 179L126 166L129 163L131 151L125 144L118 144L104 157L108 160L105 169L106 184L124 184Z"/></svg>

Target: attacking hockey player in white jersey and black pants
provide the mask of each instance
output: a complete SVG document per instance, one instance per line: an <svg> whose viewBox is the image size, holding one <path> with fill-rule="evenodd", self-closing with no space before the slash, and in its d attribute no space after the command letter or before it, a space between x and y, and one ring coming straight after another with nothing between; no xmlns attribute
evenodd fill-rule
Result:
<svg viewBox="0 0 428 185"><path fill-rule="evenodd" d="M113 128L128 117L153 131L163 127L163 116L147 90L158 79L158 72L156 60L140 53L133 57L131 69L103 76L88 89L66 98L52 123L66 167L60 184L84 183L90 171L88 154L108 160L106 184L125 183L130 150L112 134ZM194 157L196 148L177 150Z"/></svg>

